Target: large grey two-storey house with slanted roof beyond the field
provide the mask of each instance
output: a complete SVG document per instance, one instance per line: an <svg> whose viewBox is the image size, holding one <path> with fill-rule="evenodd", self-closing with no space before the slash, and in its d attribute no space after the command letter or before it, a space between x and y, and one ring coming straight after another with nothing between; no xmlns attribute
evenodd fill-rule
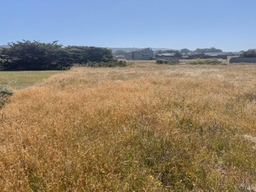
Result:
<svg viewBox="0 0 256 192"><path fill-rule="evenodd" d="M127 52L125 59L127 60L152 60L154 51L151 48L142 48Z"/></svg>

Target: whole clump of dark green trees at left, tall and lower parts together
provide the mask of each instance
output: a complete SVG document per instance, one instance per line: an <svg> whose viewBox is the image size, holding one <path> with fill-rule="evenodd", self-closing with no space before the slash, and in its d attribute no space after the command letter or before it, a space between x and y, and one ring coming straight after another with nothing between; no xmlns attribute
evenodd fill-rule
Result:
<svg viewBox="0 0 256 192"><path fill-rule="evenodd" d="M38 41L18 41L9 43L9 48L0 50L0 70L63 70L73 64L113 61L112 51L107 48L68 46L58 41L40 43Z"/></svg>

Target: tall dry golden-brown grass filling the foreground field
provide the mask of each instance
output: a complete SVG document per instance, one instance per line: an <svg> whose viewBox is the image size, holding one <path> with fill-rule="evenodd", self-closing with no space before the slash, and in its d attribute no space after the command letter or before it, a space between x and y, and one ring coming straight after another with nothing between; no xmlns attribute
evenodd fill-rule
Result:
<svg viewBox="0 0 256 192"><path fill-rule="evenodd" d="M0 110L2 191L253 191L256 66L77 67Z"/></svg>

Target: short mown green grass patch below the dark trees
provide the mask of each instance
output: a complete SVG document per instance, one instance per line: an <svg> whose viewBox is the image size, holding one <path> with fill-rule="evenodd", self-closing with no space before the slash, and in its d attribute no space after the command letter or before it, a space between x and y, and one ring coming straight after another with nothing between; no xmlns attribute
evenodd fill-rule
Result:
<svg viewBox="0 0 256 192"><path fill-rule="evenodd" d="M64 73L64 71L0 71L0 86L26 88L56 73Z"/></svg>

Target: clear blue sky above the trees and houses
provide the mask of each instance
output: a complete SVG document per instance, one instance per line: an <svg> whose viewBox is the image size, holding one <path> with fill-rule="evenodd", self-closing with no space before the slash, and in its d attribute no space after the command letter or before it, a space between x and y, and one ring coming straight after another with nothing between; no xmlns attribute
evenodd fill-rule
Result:
<svg viewBox="0 0 256 192"><path fill-rule="evenodd" d="M0 45L256 48L255 0L1 0Z"/></svg>

